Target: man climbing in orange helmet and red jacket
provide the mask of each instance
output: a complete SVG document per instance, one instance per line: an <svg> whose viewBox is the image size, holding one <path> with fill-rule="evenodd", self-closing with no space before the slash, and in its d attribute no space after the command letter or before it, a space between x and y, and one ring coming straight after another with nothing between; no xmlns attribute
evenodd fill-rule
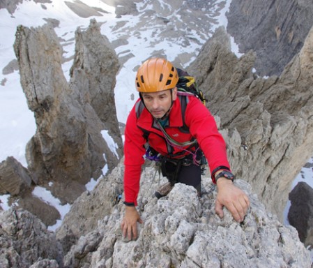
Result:
<svg viewBox="0 0 313 268"><path fill-rule="evenodd" d="M136 206L146 144L149 155L152 152L160 161L162 174L169 180L157 189L157 198L167 195L177 182L194 186L200 197L203 152L217 184L216 214L222 218L222 208L226 207L236 221L242 222L250 206L247 195L234 186L226 145L214 117L197 96L178 94L177 83L177 70L166 59L148 59L137 71L135 84L140 98L128 115L124 144L125 215L121 229L128 239L137 237L137 222L142 223ZM183 124L188 131L183 130Z"/></svg>

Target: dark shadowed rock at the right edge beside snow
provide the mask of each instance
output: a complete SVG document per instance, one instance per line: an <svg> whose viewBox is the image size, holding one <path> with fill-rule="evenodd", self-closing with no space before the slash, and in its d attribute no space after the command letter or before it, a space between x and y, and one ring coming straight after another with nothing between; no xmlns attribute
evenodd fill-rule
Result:
<svg viewBox="0 0 313 268"><path fill-rule="evenodd" d="M305 246L313 246L313 189L301 181L289 193L289 200L289 223L298 230Z"/></svg>

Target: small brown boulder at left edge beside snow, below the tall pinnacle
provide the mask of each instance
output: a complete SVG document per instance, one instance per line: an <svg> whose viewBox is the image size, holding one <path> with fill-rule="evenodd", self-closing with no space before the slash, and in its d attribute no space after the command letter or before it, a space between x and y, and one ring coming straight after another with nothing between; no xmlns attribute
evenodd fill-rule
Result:
<svg viewBox="0 0 313 268"><path fill-rule="evenodd" d="M19 195L31 187L31 174L13 156L0 163L0 194Z"/></svg>

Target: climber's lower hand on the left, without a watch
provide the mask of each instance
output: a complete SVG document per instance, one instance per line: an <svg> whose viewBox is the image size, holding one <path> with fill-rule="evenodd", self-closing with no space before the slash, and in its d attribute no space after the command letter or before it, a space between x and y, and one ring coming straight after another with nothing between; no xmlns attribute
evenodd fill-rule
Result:
<svg viewBox="0 0 313 268"><path fill-rule="evenodd" d="M137 238L137 222L143 223L137 209L135 207L125 207L125 216L121 223L124 238L126 235L129 240Z"/></svg>

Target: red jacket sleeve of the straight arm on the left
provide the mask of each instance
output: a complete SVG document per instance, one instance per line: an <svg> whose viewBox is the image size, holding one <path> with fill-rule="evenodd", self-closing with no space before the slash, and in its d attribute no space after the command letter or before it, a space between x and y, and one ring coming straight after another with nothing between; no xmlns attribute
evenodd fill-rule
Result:
<svg viewBox="0 0 313 268"><path fill-rule="evenodd" d="M124 195L125 202L134 203L137 206L137 195L139 193L139 181L144 164L143 132L137 127L137 116L135 106L132 108L125 126L124 142Z"/></svg>

